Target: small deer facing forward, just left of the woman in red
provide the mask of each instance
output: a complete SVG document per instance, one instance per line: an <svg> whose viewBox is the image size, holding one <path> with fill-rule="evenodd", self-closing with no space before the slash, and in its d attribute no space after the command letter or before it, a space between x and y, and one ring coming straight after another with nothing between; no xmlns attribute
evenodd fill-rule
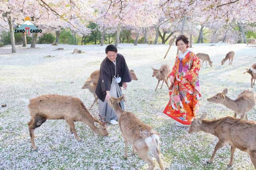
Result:
<svg viewBox="0 0 256 170"><path fill-rule="evenodd" d="M169 76L169 73L170 73L170 67L167 65L167 64L163 64L161 65L160 69L154 69L152 67L152 70L153 70L153 74L152 74L152 77L155 77L157 78L158 80L158 84L159 82L162 80L163 82L166 83L167 87L169 88L169 85L168 85L168 76ZM158 87L158 84L157 84L157 87ZM157 87L155 88L155 90L157 90ZM163 83L161 85L161 88L162 89L163 87Z"/></svg>

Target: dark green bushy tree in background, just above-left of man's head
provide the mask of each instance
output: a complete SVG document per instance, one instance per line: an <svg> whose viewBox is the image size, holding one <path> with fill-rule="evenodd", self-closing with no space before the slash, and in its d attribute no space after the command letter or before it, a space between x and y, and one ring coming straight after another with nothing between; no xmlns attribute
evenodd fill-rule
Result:
<svg viewBox="0 0 256 170"><path fill-rule="evenodd" d="M99 44L101 41L101 32L99 26L93 22L90 22L87 28L91 29L91 34L83 37L84 44Z"/></svg>

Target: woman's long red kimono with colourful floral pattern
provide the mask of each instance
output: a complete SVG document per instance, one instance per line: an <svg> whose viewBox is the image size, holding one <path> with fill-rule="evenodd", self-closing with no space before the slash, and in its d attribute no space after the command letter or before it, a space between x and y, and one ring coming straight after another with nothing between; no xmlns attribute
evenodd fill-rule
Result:
<svg viewBox="0 0 256 170"><path fill-rule="evenodd" d="M174 85L172 89L169 88L170 100L163 113L182 124L189 125L199 110L200 60L189 51L181 62L177 55L172 72L169 74L170 82L174 82ZM184 77L187 82L181 84Z"/></svg>

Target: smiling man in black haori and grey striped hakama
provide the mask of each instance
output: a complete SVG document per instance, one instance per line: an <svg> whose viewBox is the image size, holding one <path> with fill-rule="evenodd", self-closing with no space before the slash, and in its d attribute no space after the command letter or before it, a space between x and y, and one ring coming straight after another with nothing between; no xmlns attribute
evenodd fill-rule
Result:
<svg viewBox="0 0 256 170"><path fill-rule="evenodd" d="M118 117L113 109L108 105L107 99L110 97L122 96L121 88L127 88L127 82L130 82L131 75L125 62L124 56L117 53L114 45L108 45L105 49L107 57L103 59L99 69L99 80L95 90L99 98L99 114L105 117L105 121L117 124ZM124 110L124 101L120 103Z"/></svg>

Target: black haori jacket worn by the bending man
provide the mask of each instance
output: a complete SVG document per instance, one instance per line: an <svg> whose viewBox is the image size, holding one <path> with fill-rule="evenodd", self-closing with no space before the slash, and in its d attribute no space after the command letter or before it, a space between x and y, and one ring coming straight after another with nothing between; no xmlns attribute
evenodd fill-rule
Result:
<svg viewBox="0 0 256 170"><path fill-rule="evenodd" d="M115 65L112 61L106 57L101 62L101 68L99 69L99 80L95 90L96 95L101 101L105 100L106 91L110 91L112 78L114 76L121 77L121 82L118 83L120 87L123 86L123 82L131 82L131 75L128 66L125 62L124 56L117 53L116 57L116 75Z"/></svg>

